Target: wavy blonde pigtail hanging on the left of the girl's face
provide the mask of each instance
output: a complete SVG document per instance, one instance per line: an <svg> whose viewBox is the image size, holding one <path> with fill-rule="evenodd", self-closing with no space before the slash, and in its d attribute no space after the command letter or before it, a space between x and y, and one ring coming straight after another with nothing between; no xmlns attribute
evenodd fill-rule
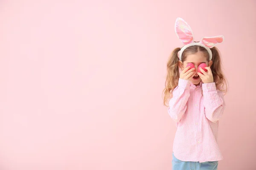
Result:
<svg viewBox="0 0 256 170"><path fill-rule="evenodd" d="M178 52L180 48L175 48L167 62L167 76L165 88L163 90L163 104L167 106L168 99L172 98L172 91L177 87L180 77Z"/></svg>

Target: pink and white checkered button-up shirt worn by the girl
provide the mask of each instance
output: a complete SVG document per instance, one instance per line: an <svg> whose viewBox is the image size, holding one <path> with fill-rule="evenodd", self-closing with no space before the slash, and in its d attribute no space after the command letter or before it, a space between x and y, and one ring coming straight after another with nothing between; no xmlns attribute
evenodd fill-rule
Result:
<svg viewBox="0 0 256 170"><path fill-rule="evenodd" d="M179 79L169 102L168 113L177 122L173 153L181 161L219 161L218 120L225 108L224 96L215 83L197 87Z"/></svg>

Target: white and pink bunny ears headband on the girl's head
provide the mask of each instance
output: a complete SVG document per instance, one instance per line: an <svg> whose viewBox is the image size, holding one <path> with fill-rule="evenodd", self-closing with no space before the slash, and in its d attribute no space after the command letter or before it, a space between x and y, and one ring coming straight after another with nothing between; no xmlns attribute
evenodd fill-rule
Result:
<svg viewBox="0 0 256 170"><path fill-rule="evenodd" d="M182 18L177 18L175 21L175 33L178 39L184 44L178 53L178 57L181 61L183 51L190 46L201 46L204 47L209 53L209 60L212 60L212 51L210 48L214 47L217 43L221 43L224 40L223 35L215 37L202 37L200 42L194 42L194 35L192 29Z"/></svg>

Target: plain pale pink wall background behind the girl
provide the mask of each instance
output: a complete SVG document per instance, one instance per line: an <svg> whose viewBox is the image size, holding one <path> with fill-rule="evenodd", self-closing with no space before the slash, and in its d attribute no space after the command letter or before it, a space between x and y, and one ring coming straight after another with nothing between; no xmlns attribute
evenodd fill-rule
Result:
<svg viewBox="0 0 256 170"><path fill-rule="evenodd" d="M161 93L182 17L196 40L225 36L219 170L253 170L255 8L255 0L2 0L0 169L171 170L176 128Z"/></svg>

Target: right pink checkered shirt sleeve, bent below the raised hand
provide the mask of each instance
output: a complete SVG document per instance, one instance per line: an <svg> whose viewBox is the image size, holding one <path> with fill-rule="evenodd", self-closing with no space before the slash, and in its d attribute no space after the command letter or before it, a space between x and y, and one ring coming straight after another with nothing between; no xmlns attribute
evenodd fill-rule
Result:
<svg viewBox="0 0 256 170"><path fill-rule="evenodd" d="M224 95L216 89L215 82L202 85L204 94L205 116L211 122L217 122L226 107Z"/></svg>

